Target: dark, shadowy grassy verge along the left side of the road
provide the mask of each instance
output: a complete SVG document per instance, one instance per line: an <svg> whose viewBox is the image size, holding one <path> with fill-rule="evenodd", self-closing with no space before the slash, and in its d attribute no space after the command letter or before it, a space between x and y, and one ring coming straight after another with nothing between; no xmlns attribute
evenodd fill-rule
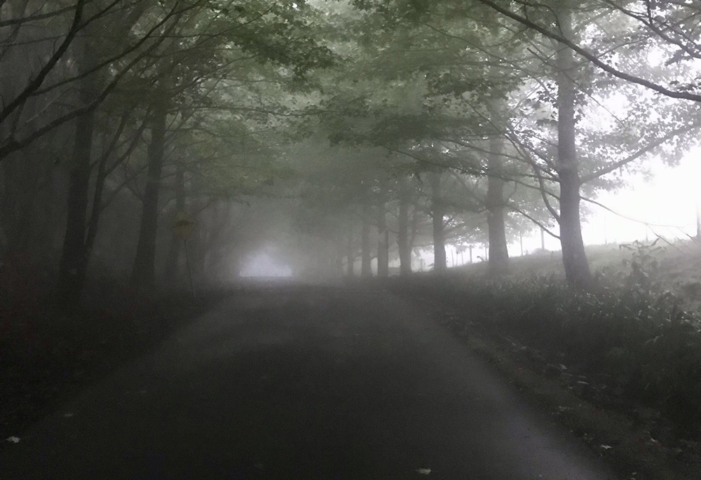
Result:
<svg viewBox="0 0 701 480"><path fill-rule="evenodd" d="M83 308L71 314L57 313L37 292L0 305L0 448L223 296L178 292L149 299L115 282L86 290Z"/></svg>

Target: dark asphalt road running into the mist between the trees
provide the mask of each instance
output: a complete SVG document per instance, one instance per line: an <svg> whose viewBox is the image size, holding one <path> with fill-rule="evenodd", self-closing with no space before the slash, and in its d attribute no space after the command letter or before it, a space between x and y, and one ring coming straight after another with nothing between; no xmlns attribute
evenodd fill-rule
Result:
<svg viewBox="0 0 701 480"><path fill-rule="evenodd" d="M4 448L0 477L614 478L420 308L311 287L227 299Z"/></svg>

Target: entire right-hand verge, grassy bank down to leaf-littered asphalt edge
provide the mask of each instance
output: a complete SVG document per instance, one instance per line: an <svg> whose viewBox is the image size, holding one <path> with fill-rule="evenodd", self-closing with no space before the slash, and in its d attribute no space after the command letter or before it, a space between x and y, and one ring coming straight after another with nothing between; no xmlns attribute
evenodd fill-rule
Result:
<svg viewBox="0 0 701 480"><path fill-rule="evenodd" d="M477 266L392 288L434 303L439 322L625 478L701 478L701 322L688 310L693 296L664 288L697 280L669 282L665 268L684 263L674 255L660 263L654 245L617 254L625 263L602 264L587 293L568 289L550 259L534 258L521 260L527 267L517 259L516 273L499 281Z"/></svg>

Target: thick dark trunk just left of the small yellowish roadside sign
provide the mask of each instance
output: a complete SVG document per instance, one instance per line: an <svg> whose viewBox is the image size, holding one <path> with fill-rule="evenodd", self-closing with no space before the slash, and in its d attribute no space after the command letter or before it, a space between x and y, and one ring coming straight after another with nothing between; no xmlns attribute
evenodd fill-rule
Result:
<svg viewBox="0 0 701 480"><path fill-rule="evenodd" d="M163 151L165 149L165 121L168 110L161 102L154 112L151 123L151 142L149 143L149 168L146 188L144 189L144 206L142 208L139 242L137 243L132 285L137 289L149 291L156 283L156 233L158 233L158 194L161 191L161 172L163 170Z"/></svg>

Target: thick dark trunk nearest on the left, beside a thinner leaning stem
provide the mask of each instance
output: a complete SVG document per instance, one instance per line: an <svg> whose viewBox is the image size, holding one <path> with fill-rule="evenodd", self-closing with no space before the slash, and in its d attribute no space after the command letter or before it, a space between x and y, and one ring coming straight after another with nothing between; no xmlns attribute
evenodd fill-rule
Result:
<svg viewBox="0 0 701 480"><path fill-rule="evenodd" d="M81 85L81 100L92 100L90 80ZM90 158L93 150L95 111L76 118L73 161L68 187L66 234L58 267L57 300L64 308L76 308L80 302L88 266L86 219L90 188Z"/></svg>

